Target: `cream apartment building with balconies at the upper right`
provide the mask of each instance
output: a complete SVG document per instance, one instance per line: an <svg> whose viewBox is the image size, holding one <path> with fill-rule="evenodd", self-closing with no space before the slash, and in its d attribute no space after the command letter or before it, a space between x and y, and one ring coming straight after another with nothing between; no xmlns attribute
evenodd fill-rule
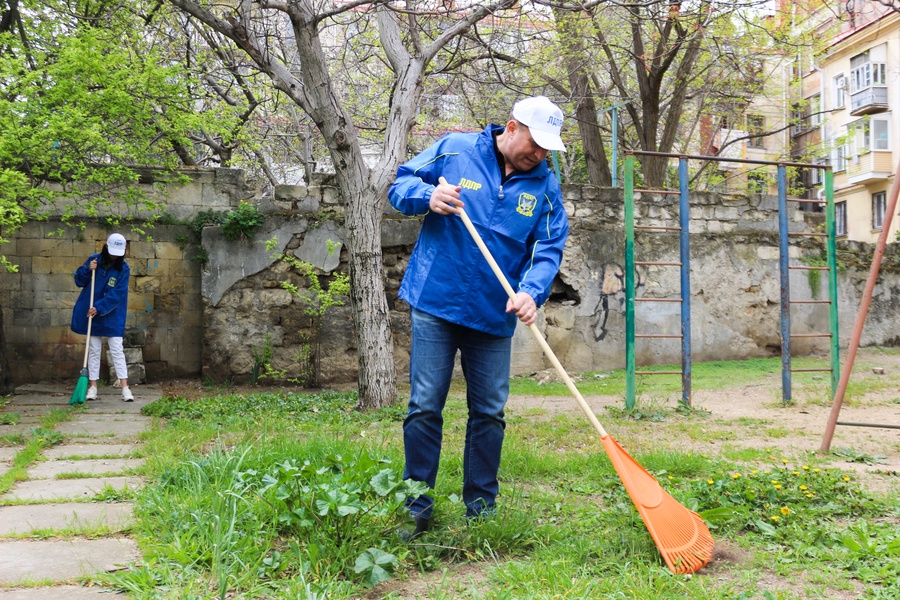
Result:
<svg viewBox="0 0 900 600"><path fill-rule="evenodd" d="M827 42L797 59L791 153L831 164L838 236L875 242L900 159L900 12L865 0L819 5L807 18ZM824 196L820 178L808 183ZM889 242L898 230L895 215Z"/></svg>

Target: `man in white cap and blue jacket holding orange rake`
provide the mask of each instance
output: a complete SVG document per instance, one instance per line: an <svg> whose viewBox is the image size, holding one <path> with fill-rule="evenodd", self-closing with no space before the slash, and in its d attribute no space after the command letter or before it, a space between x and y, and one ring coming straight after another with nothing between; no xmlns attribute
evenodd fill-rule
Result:
<svg viewBox="0 0 900 600"><path fill-rule="evenodd" d="M516 319L535 322L568 236L559 181L546 161L550 150L565 151L562 121L548 98L520 100L505 127L435 142L400 167L388 192L403 214L425 215L400 286L412 323L404 478L435 486L458 351L469 409L463 463L469 518L494 510ZM515 300L456 216L463 206L516 290ZM410 499L416 526L409 536L428 529L432 505L429 496Z"/></svg>

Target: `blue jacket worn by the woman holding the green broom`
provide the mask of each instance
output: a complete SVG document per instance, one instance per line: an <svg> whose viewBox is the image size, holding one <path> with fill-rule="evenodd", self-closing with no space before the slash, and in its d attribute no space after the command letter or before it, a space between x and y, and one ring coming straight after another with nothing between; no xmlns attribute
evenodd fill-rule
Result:
<svg viewBox="0 0 900 600"><path fill-rule="evenodd" d="M97 278L94 281L94 307L97 315L91 323L91 335L99 337L122 337L125 334L125 315L128 312L128 279L131 269L122 263L122 269L104 268L100 254L92 254L75 271L75 285L82 288L75 308L72 309L72 331L82 335L87 333L87 311L91 307L90 262L97 259Z"/></svg>

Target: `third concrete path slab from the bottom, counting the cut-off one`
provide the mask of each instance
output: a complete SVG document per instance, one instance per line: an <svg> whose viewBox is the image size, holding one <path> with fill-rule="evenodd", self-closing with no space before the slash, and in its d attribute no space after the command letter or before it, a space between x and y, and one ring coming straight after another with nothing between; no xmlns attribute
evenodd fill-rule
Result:
<svg viewBox="0 0 900 600"><path fill-rule="evenodd" d="M134 522L131 502L66 502L0 506L0 536L24 535L39 529L84 530L106 525L120 531Z"/></svg>

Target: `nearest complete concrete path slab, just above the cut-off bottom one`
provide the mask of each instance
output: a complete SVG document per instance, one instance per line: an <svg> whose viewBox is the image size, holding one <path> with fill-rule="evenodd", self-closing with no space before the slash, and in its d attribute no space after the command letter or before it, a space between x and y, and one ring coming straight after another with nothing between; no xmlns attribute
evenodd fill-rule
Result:
<svg viewBox="0 0 900 600"><path fill-rule="evenodd" d="M127 538L0 542L0 583L66 581L126 568L139 556Z"/></svg>

